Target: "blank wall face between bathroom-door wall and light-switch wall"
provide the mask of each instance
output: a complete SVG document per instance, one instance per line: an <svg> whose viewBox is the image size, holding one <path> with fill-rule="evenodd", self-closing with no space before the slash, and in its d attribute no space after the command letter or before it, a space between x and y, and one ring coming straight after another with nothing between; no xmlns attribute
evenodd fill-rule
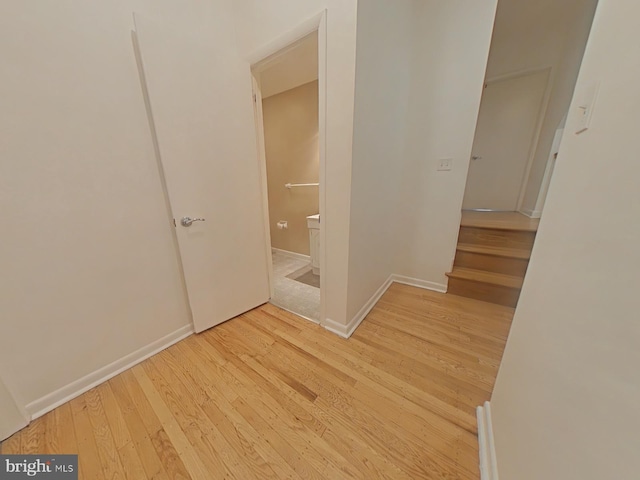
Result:
<svg viewBox="0 0 640 480"><path fill-rule="evenodd" d="M347 317L395 273L413 0L358 4Z"/></svg>

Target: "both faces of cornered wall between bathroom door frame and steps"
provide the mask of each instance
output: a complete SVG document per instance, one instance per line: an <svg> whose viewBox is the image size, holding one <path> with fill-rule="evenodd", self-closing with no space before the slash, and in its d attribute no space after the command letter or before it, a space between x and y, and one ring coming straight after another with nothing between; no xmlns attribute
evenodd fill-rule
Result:
<svg viewBox="0 0 640 480"><path fill-rule="evenodd" d="M349 318L391 274L446 288L495 8L358 4Z"/></svg>

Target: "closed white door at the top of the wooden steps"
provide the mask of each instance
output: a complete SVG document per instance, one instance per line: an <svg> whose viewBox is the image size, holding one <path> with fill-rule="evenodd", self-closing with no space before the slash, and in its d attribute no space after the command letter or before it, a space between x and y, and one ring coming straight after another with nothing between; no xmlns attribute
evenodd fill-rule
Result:
<svg viewBox="0 0 640 480"><path fill-rule="evenodd" d="M544 70L486 85L462 208L517 210L548 78Z"/></svg>

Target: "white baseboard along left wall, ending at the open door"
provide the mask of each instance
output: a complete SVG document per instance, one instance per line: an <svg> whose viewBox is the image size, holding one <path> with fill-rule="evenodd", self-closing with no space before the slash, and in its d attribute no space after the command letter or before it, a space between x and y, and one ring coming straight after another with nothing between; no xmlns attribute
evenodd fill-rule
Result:
<svg viewBox="0 0 640 480"><path fill-rule="evenodd" d="M155 342L152 342L149 345L146 345L135 352L96 370L95 372L85 375L64 387L27 404L25 409L31 417L31 420L35 420L54 408L59 407L63 403L73 400L77 396L82 395L86 391L91 390L103 382L106 382L119 373L137 365L156 353L161 352L165 348L178 343L180 340L187 338L193 332L193 325L185 325L175 332L165 335Z"/></svg>

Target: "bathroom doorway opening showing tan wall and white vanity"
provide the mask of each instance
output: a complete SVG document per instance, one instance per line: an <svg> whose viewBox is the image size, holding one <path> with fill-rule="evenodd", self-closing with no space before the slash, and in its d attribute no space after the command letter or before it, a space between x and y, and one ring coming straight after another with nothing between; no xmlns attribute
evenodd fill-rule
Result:
<svg viewBox="0 0 640 480"><path fill-rule="evenodd" d="M271 303L320 322L320 91L318 31L252 68Z"/></svg>

